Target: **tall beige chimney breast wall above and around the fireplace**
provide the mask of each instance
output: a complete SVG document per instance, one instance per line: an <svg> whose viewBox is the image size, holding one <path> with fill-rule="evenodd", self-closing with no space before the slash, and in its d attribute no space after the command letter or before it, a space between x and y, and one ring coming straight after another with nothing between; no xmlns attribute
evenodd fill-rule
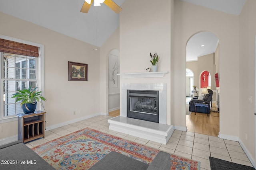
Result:
<svg viewBox="0 0 256 170"><path fill-rule="evenodd" d="M136 4L136 5L134 5ZM158 53L158 71L164 78L122 78L122 83L166 83L167 124L170 125L170 17L171 3L159 0L126 0L120 12L120 73L146 72L150 53ZM120 99L122 100L122 99ZM121 103L122 101L120 101ZM121 110L122 108L120 108Z"/></svg>

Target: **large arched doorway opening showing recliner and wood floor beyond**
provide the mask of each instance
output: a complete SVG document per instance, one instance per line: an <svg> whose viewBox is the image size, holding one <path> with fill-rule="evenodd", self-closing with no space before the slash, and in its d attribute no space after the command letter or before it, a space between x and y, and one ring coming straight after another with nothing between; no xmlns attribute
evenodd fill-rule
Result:
<svg viewBox="0 0 256 170"><path fill-rule="evenodd" d="M215 104L217 99L216 84L214 75L219 73L219 41L218 37L211 32L199 32L195 33L188 39L186 45L186 68L189 68L194 73L194 86L196 86L196 91L199 97L203 97L201 94L202 88L210 88L214 92L212 97L212 102ZM188 81L188 79L186 79ZM188 82L186 82L188 84ZM186 88L187 94L187 88ZM187 96L187 95L186 95ZM186 105L187 106L187 105ZM215 105L213 105L215 107ZM211 108L211 112L213 111ZM216 109L217 110L217 109ZM215 111L215 108L214 108ZM195 117L196 116L196 117ZM194 122L194 120L197 122ZM204 119L204 121L200 121ZM209 119L209 120L208 120ZM210 119L214 119L214 125L211 125ZM206 120L206 121L205 121ZM202 123L206 123L203 125ZM188 131L217 136L219 132L219 117L214 113L207 117L205 113L190 112L188 114L186 108L186 127ZM201 128L199 128L201 127ZM209 127L209 128L202 128ZM212 132L211 132L212 131Z"/></svg>

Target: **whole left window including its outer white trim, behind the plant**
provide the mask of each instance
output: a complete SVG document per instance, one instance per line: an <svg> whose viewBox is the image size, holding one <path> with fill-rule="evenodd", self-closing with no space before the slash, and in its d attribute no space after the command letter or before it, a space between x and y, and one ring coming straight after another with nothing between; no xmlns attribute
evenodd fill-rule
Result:
<svg viewBox="0 0 256 170"><path fill-rule="evenodd" d="M12 39L10 38L9 40L13 41ZM14 40L16 40L15 42L21 41L19 43L26 43L25 45L36 45L37 48L39 47L40 55L39 57L30 57L17 54L15 51L8 53L1 50L0 42L0 120L1 118L13 117L15 114L23 113L20 102L16 103L16 99L11 98L12 94L16 93L17 90L29 88L30 86L32 88L38 87L40 91L44 90L44 46L19 39ZM40 107L38 105L37 109L41 109Z"/></svg>

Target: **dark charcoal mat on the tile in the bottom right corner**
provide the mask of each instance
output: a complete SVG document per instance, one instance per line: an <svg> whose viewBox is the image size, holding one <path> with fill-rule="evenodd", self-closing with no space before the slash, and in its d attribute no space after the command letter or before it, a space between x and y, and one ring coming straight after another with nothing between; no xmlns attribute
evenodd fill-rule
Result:
<svg viewBox="0 0 256 170"><path fill-rule="evenodd" d="M209 159L211 170L255 170L251 166L236 164L233 162L228 162L226 160L221 160L210 156Z"/></svg>

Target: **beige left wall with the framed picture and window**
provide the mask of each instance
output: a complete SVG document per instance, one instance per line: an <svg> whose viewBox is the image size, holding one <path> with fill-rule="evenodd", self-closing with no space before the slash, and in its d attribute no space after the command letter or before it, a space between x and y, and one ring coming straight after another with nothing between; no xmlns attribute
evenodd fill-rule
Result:
<svg viewBox="0 0 256 170"><path fill-rule="evenodd" d="M46 128L100 113L100 51L92 51L94 46L88 43L1 12L0 23L0 34L44 45ZM68 61L88 64L88 81L68 81ZM0 125L1 139L17 135L12 124Z"/></svg>

